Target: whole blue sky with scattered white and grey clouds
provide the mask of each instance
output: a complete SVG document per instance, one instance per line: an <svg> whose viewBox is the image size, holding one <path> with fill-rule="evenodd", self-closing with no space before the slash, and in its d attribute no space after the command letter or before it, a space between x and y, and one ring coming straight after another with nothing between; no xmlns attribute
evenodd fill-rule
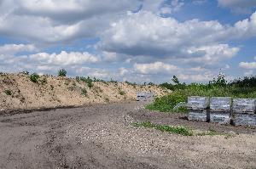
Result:
<svg viewBox="0 0 256 169"><path fill-rule="evenodd" d="M256 75L256 0L0 0L0 71L131 82Z"/></svg>

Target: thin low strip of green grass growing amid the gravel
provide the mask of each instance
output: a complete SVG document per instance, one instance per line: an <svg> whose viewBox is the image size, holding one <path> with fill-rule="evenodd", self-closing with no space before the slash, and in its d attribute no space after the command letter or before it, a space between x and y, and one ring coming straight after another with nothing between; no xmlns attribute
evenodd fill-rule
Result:
<svg viewBox="0 0 256 169"><path fill-rule="evenodd" d="M161 125L161 124L154 124L150 121L144 121L144 122L133 122L131 123L131 126L133 127L146 127L146 128L154 128L156 130L160 130L161 132L172 132L176 133L182 136L214 136L214 135L224 135L223 133L216 132L216 131L207 131L207 132L194 132L192 129L189 129L188 127L182 127L182 126L168 126L168 125Z"/></svg>

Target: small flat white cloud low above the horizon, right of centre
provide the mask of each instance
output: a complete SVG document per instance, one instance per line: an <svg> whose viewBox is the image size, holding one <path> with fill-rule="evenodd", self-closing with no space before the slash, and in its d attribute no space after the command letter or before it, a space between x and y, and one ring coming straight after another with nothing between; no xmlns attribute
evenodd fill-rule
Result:
<svg viewBox="0 0 256 169"><path fill-rule="evenodd" d="M172 74L173 71L177 71L176 65L164 64L162 62L154 62L152 64L135 64L134 69L143 74L157 74L165 73Z"/></svg>

